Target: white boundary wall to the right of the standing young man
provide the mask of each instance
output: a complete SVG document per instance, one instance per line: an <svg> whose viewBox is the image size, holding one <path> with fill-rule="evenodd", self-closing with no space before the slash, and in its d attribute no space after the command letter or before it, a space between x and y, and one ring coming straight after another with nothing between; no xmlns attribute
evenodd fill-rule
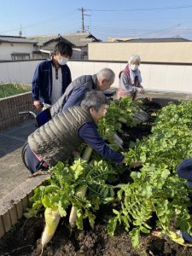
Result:
<svg viewBox="0 0 192 256"><path fill-rule="evenodd" d="M119 84L119 72L125 67L125 62L110 61L69 61L73 79L83 74L97 73L103 67L113 69L116 74L113 87ZM143 87L158 90L179 90L192 92L192 64L173 65L173 64L141 64L140 71L143 78Z"/></svg>

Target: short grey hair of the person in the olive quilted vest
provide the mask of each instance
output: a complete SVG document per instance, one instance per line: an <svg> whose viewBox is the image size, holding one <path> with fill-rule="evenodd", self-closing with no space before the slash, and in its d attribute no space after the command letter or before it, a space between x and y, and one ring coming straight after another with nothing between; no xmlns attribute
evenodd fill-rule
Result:
<svg viewBox="0 0 192 256"><path fill-rule="evenodd" d="M90 90L86 92L84 100L81 102L81 107L85 108L86 110L94 108L96 112L98 112L102 105L108 105L108 103L108 98L101 90Z"/></svg>

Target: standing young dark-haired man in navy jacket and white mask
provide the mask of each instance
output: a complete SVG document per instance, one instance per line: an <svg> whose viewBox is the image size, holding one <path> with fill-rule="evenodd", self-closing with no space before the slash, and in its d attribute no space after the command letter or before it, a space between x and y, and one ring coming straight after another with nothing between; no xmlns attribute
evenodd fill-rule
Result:
<svg viewBox="0 0 192 256"><path fill-rule="evenodd" d="M38 64L32 79L32 100L37 109L42 103L54 104L72 82L71 72L67 66L72 56L72 45L66 42L55 44L51 60Z"/></svg>

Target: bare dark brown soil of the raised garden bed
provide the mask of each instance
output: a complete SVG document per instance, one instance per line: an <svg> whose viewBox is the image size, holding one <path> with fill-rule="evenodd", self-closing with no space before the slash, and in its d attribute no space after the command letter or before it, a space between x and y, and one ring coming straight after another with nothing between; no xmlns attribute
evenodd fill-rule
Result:
<svg viewBox="0 0 192 256"><path fill-rule="evenodd" d="M152 109L151 106L149 108ZM128 147L131 140L147 136L150 133L150 125L139 125L125 132L129 133L128 137L124 137L125 147ZM70 230L67 218L61 218L55 235L44 247L42 256L192 256L192 247L180 246L168 237L154 236L153 231L148 236L141 236L138 249L131 246L130 237L123 226L117 228L115 236L108 236L106 224L112 217L112 207L111 205L100 208L94 230L90 229L86 221L84 230ZM43 230L43 214L27 220L21 218L0 240L0 256L39 256Z"/></svg>

